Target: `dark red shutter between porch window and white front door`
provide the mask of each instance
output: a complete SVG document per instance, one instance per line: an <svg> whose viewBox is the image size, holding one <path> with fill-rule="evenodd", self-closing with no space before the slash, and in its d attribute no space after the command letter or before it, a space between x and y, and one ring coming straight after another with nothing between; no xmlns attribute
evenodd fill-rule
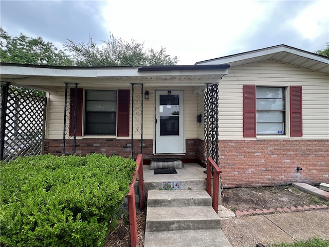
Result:
<svg viewBox="0 0 329 247"><path fill-rule="evenodd" d="M130 91L118 90L117 136L129 136Z"/></svg>

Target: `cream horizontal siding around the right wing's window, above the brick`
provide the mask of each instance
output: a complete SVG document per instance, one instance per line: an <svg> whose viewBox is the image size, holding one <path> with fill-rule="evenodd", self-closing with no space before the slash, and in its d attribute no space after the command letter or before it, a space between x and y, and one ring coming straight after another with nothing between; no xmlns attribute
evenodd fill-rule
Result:
<svg viewBox="0 0 329 247"><path fill-rule="evenodd" d="M329 138L329 77L289 64L266 61L230 68L228 75L221 80L219 84L220 140L244 139L243 85L302 86L303 136L294 138ZM286 109L288 123L288 105ZM289 128L286 129L286 133L289 135Z"/></svg>

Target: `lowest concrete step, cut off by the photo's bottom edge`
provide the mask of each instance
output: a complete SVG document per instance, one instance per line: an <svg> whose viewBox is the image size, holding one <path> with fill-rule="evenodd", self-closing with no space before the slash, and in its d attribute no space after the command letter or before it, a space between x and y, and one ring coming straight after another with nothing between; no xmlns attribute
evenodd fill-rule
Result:
<svg viewBox="0 0 329 247"><path fill-rule="evenodd" d="M220 229L145 232L144 247L231 247Z"/></svg>

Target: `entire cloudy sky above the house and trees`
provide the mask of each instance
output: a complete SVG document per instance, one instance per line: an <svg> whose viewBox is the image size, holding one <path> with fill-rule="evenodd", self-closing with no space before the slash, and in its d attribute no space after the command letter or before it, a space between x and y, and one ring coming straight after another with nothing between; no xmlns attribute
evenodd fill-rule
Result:
<svg viewBox="0 0 329 247"><path fill-rule="evenodd" d="M285 44L314 52L329 41L329 1L0 1L10 36L42 37L58 48L115 37L144 42L180 65Z"/></svg>

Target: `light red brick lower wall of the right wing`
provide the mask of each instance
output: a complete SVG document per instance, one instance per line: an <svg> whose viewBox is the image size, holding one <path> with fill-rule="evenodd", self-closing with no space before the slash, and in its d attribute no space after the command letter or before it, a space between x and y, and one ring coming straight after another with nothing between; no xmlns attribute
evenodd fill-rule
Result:
<svg viewBox="0 0 329 247"><path fill-rule="evenodd" d="M328 140L223 140L219 147L224 188L329 183Z"/></svg>

